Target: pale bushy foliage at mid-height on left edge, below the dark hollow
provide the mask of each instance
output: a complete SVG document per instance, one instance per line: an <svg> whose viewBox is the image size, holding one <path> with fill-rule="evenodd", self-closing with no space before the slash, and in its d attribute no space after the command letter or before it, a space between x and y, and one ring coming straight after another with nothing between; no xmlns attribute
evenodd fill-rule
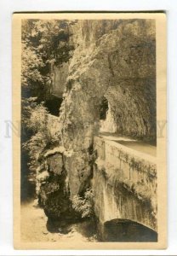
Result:
<svg viewBox="0 0 177 256"><path fill-rule="evenodd" d="M31 131L31 137L23 143L29 154L31 169L36 168L36 161L45 148L60 143L60 123L57 117L49 114L43 102L37 104L30 98L23 101L22 124Z"/></svg>

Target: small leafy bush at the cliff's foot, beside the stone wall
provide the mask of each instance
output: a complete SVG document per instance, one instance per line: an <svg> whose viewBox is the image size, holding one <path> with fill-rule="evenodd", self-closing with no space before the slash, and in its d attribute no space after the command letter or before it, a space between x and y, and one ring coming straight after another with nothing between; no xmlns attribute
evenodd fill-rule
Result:
<svg viewBox="0 0 177 256"><path fill-rule="evenodd" d="M91 189L87 189L84 196L75 195L72 199L72 207L81 214L82 218L94 217L94 195Z"/></svg>

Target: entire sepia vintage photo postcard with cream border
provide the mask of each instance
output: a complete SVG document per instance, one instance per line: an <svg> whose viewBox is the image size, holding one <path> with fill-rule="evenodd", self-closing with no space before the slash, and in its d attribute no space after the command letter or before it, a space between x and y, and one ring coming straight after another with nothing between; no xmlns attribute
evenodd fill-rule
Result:
<svg viewBox="0 0 177 256"><path fill-rule="evenodd" d="M13 122L15 248L167 247L165 14L14 14Z"/></svg>

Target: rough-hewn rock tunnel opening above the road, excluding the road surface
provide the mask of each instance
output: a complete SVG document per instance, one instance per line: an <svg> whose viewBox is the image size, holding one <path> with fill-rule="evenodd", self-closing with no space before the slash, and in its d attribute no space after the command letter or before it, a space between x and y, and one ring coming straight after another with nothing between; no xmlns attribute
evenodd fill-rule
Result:
<svg viewBox="0 0 177 256"><path fill-rule="evenodd" d="M154 82L146 79L111 84L100 102L100 132L156 146L154 93Z"/></svg>

